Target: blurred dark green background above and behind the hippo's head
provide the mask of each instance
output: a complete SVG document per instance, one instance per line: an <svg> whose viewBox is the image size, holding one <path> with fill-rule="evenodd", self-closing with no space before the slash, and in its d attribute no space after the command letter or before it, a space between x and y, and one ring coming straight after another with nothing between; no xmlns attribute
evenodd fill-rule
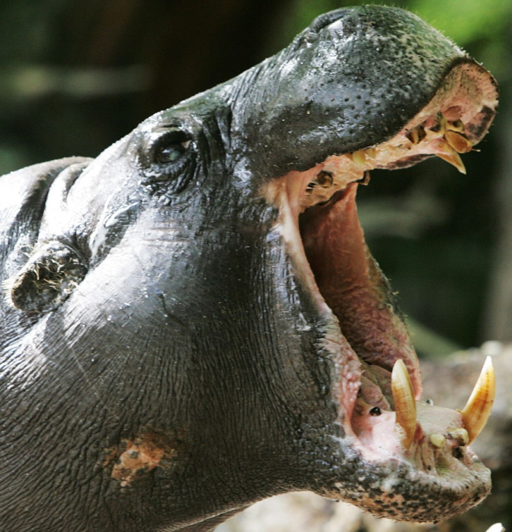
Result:
<svg viewBox="0 0 512 532"><path fill-rule="evenodd" d="M95 156L138 122L284 47L357 1L17 0L0 3L0 173ZM382 2L374 2L382 3ZM439 159L373 172L371 250L415 343L439 356L512 340L512 1L394 0L497 78L499 115L463 177Z"/></svg>

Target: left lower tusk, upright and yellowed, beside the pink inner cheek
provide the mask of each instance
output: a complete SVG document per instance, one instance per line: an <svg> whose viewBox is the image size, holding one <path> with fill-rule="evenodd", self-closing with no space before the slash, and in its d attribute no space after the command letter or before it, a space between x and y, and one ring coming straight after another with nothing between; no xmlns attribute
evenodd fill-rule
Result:
<svg viewBox="0 0 512 532"><path fill-rule="evenodd" d="M394 363L391 373L391 390L397 415L395 428L398 429L403 446L408 449L416 431L416 401L409 372L403 360L399 359Z"/></svg>

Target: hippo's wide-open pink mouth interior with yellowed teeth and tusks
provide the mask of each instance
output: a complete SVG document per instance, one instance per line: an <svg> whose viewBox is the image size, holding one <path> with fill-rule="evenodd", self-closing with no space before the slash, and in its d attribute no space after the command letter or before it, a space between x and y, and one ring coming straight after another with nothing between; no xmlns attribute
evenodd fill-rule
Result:
<svg viewBox="0 0 512 532"><path fill-rule="evenodd" d="M296 276L319 313L333 316L333 329L339 325L329 337L342 353L336 361L339 421L366 460L398 458L435 476L470 467L474 460L467 444L490 414L492 364L486 362L463 410L420 401L417 356L365 243L355 196L374 168L392 170L440 156L465 172L461 154L486 133L496 99L488 74L479 65L461 63L392 138L330 156L304 172L289 172L266 190L280 209L280 232Z"/></svg>

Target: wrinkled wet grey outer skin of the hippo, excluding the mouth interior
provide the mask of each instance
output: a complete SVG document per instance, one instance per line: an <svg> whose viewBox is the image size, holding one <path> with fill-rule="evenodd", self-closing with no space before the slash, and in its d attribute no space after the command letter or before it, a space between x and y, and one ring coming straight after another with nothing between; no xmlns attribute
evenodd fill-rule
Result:
<svg viewBox="0 0 512 532"><path fill-rule="evenodd" d="M293 490L364 505L397 470L376 513L485 496L485 470L458 505L344 437L336 320L261 193L390 138L463 62L406 12L339 10L97 159L0 179L3 531L203 531Z"/></svg>

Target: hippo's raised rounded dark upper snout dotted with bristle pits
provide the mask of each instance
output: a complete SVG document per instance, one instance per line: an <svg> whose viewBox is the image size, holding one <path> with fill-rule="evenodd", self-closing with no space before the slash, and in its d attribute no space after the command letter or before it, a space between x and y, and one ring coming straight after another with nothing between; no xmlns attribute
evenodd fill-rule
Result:
<svg viewBox="0 0 512 532"><path fill-rule="evenodd" d="M481 112L492 114L490 74L420 19L383 6L339 10L225 88L232 138L243 134L244 159L259 178L302 172L396 135L431 102L449 72L465 69L467 90L477 87L489 96L471 100L488 99ZM473 144L486 122L476 116L465 122Z"/></svg>

